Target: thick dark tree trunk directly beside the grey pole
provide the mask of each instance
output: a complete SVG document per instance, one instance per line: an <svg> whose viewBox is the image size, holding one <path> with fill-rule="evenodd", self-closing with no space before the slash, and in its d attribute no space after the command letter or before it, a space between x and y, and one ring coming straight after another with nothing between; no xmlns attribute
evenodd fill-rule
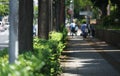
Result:
<svg viewBox="0 0 120 76"><path fill-rule="evenodd" d="M19 0L19 50L33 50L33 0Z"/></svg>

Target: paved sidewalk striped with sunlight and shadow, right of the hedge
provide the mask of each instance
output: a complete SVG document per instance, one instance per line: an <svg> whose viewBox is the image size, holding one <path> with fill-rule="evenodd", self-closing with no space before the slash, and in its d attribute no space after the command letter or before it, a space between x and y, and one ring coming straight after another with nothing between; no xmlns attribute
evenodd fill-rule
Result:
<svg viewBox="0 0 120 76"><path fill-rule="evenodd" d="M69 36L61 59L61 76L120 76L119 52L119 49L97 39Z"/></svg>

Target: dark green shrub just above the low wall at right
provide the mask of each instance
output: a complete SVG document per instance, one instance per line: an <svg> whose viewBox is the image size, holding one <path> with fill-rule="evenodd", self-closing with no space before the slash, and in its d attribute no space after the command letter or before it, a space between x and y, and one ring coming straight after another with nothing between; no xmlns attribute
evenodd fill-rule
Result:
<svg viewBox="0 0 120 76"><path fill-rule="evenodd" d="M110 16L105 16L101 19L101 24L97 26L100 29L113 29L113 30L120 30L120 17L119 13L113 12Z"/></svg>

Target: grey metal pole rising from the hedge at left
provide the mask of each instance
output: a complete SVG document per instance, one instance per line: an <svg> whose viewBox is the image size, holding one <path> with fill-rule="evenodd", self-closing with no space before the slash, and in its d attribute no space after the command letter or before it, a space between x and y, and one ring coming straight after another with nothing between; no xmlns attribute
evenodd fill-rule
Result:
<svg viewBox="0 0 120 76"><path fill-rule="evenodd" d="M18 57L18 8L19 0L9 0L9 63L14 63Z"/></svg>

